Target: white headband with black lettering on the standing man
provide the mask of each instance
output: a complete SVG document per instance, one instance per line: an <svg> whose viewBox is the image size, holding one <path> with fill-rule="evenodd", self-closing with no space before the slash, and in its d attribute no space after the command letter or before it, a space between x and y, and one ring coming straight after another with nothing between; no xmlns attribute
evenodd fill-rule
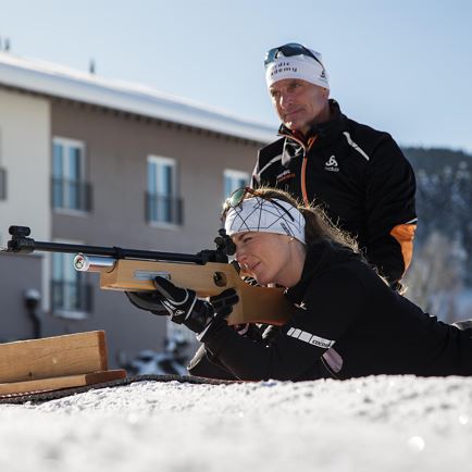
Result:
<svg viewBox="0 0 472 472"><path fill-rule="evenodd" d="M309 55L290 55L288 58L283 55L277 57L265 70L268 88L284 78L299 78L328 89L330 83L327 79L327 73L321 65L321 54L315 51L312 52L320 62Z"/></svg>

